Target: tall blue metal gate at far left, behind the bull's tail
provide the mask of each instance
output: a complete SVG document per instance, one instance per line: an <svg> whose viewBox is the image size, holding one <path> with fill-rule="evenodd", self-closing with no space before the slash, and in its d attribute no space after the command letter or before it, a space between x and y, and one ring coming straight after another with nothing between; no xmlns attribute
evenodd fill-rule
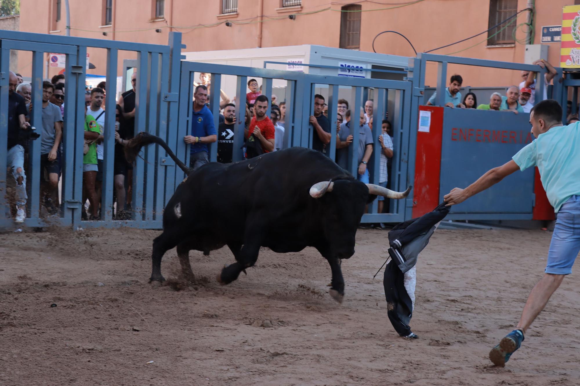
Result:
<svg viewBox="0 0 580 386"><path fill-rule="evenodd" d="M29 195L27 219L30 227L50 224L73 225L74 227L117 227L128 225L139 228L161 228L161 214L173 186L165 186L165 172L169 162L165 154L151 147L138 159L133 171L133 217L128 221L113 220L113 164L115 141L115 98L106 99L104 125L104 159L102 185L102 217L100 221L81 220L83 140L85 121L85 62L86 48L107 50L107 94L117 93L118 51L137 53L137 86L135 132L146 131L164 139L175 135L176 120L171 115L177 112L177 89L179 74L181 35L171 33L169 45L119 42L103 39L64 37L60 35L30 34L26 32L0 32L0 148L6 149L8 121L8 74L10 49L32 52L32 103L42 104L42 64L46 52L66 54L66 93L64 99L63 127L63 175L60 213L47 217L41 210L40 201L40 144L31 141L29 150L28 177ZM174 54L175 52L175 54ZM125 91L125 90L123 90ZM42 128L41 109L32 109L31 124ZM172 173L168 173L171 176ZM0 156L0 191L6 192L6 156ZM3 196L5 195L2 193ZM13 225L10 214L10 198L3 199L0 210L0 227Z"/></svg>

